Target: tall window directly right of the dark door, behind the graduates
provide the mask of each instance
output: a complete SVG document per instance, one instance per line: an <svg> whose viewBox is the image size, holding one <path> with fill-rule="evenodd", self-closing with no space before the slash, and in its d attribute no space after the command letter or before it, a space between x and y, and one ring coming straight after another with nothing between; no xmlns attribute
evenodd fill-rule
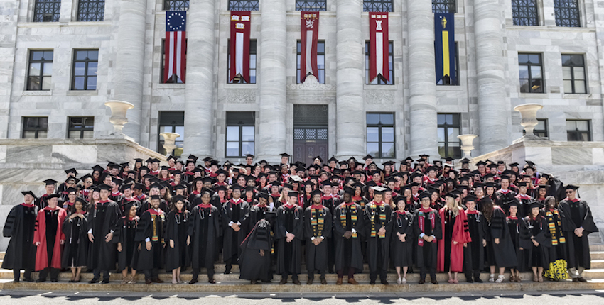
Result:
<svg viewBox="0 0 604 305"><path fill-rule="evenodd" d="M367 153L376 158L396 157L394 113L367 113Z"/></svg>

